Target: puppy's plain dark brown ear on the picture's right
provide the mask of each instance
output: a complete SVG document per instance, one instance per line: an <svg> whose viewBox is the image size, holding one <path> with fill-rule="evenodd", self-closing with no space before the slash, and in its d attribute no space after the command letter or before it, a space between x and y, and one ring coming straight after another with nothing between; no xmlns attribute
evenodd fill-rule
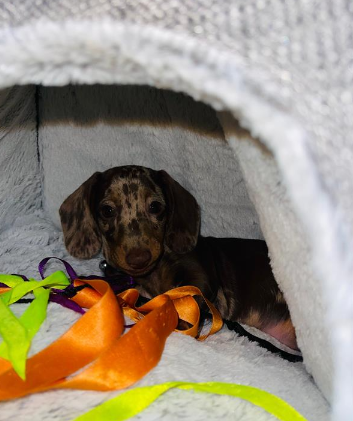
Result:
<svg viewBox="0 0 353 421"><path fill-rule="evenodd" d="M200 231L200 208L192 194L165 171L158 176L167 200L168 217L165 244L175 253L191 251Z"/></svg>

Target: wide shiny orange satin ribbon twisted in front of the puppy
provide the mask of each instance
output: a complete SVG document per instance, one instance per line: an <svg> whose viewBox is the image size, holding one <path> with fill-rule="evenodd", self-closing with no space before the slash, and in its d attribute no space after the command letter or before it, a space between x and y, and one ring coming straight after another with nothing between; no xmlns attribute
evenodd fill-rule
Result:
<svg viewBox="0 0 353 421"><path fill-rule="evenodd" d="M194 337L198 334L200 311L192 298L202 296L198 288L176 288L136 307L139 293L135 289L124 291L117 299L105 281L75 281L76 286L83 283L92 288L79 291L73 300L89 310L64 335L27 360L25 381L8 361L0 358L0 401L54 388L125 388L156 366L178 318L191 325L182 333ZM208 334L199 340L222 327L218 311L204 299L213 323ZM122 309L138 321L125 335ZM69 377L80 369L83 370Z"/></svg>

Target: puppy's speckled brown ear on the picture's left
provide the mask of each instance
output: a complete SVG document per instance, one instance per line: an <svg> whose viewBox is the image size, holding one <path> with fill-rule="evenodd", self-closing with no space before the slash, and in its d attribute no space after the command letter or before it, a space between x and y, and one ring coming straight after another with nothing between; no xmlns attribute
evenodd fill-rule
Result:
<svg viewBox="0 0 353 421"><path fill-rule="evenodd" d="M60 206L59 214L68 252L79 259L90 259L102 246L93 216L93 194L101 173L94 173Z"/></svg>

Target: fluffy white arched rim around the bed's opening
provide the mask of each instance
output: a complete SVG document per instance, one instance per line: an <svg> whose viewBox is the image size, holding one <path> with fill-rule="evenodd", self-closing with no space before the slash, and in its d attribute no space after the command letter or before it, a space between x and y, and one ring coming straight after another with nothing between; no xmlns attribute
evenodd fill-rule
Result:
<svg viewBox="0 0 353 421"><path fill-rule="evenodd" d="M276 86L268 83L270 79L261 78L265 75L261 72L257 77L256 69L252 75L250 69L248 74L247 68L242 67L241 57L195 38L109 20L33 22L16 28L15 36L11 30L1 29L0 39L1 86L130 82L182 90L215 108L231 110L243 125L270 146L311 248L312 269L318 279L313 306L319 303L328 307L326 321L332 337L327 338L326 348L319 351L323 358L317 361L323 360L326 349L332 347L335 420L349 420L353 394L350 375L353 306L349 300L352 242L347 236L347 221L335 199L336 191L332 191L334 187L328 191L329 174L324 180L313 158L314 142L307 133L308 125L304 127L302 121L290 112L285 114L283 107L278 106L278 92ZM280 75L283 80L288 77L285 72ZM332 166L331 170L336 168ZM286 282L282 287L288 300L294 302L289 289L287 293ZM304 340L302 343L305 347ZM316 372L316 381L328 393L326 364L314 367L316 347L311 351L308 345L304 350L309 357L308 367ZM332 367L328 373L331 370Z"/></svg>

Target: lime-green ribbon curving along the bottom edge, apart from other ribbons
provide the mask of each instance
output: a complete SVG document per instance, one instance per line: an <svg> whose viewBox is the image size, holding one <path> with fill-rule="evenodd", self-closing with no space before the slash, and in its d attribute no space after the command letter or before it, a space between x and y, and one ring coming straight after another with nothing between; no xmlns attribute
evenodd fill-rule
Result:
<svg viewBox="0 0 353 421"><path fill-rule="evenodd" d="M220 382L169 382L155 386L137 387L104 402L73 421L125 421L143 411L163 393L173 388L229 395L259 406L281 421L307 421L299 412L278 396L256 387Z"/></svg>

